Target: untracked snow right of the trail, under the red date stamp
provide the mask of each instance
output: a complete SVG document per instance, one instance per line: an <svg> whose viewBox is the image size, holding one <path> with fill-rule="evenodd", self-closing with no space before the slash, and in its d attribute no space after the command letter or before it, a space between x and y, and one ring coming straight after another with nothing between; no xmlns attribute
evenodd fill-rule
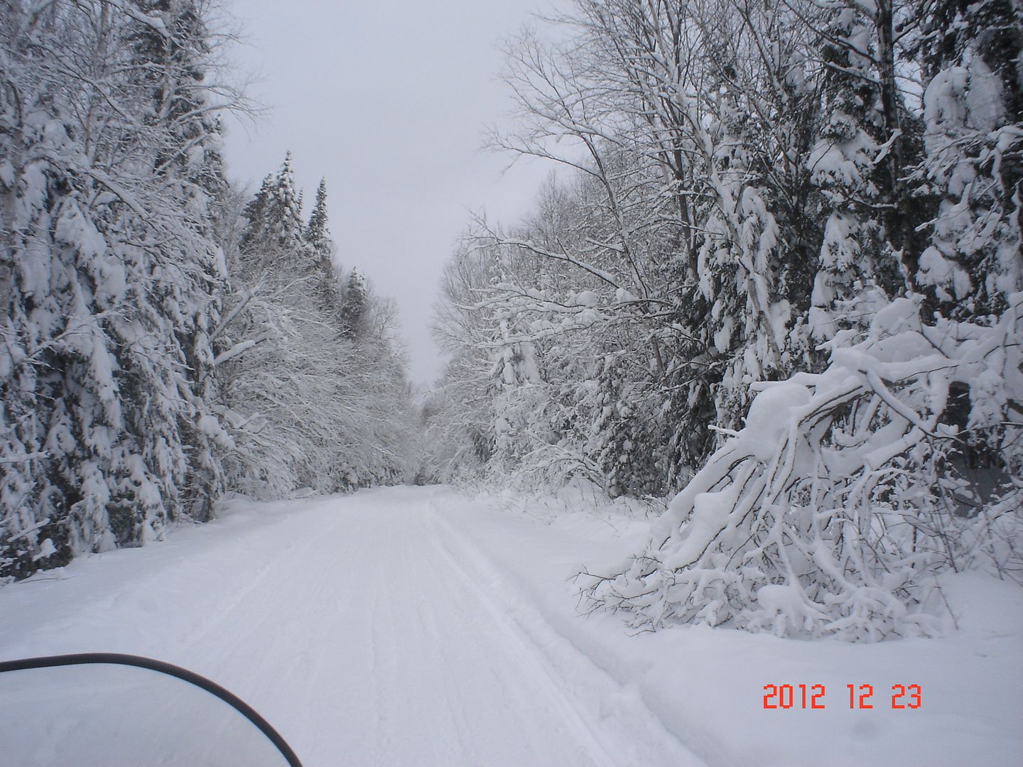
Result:
<svg viewBox="0 0 1023 767"><path fill-rule="evenodd" d="M630 636L616 616L580 620L569 579L617 565L650 523L576 503L450 504L444 520L466 553L492 562L522 601L641 701L709 765L1023 764L1023 588L977 574L944 579L960 631L878 644L798 641L678 626ZM503 506L503 512L497 509ZM824 684L825 710L764 710L765 684ZM871 684L850 710L847 684ZM919 710L891 708L894 684L919 684ZM798 687L796 688L798 695Z"/></svg>

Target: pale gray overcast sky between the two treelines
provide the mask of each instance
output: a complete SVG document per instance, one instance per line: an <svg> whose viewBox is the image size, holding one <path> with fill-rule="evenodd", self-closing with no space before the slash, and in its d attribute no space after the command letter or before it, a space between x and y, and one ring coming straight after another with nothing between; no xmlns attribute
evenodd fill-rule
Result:
<svg viewBox="0 0 1023 767"><path fill-rule="evenodd" d="M255 127L231 123L231 175L255 187L284 152L309 202L327 181L339 259L398 303L411 377L440 369L431 306L470 211L510 223L550 172L481 151L484 126L510 108L499 42L544 0L234 0L258 71L250 90L271 107ZM307 207L309 205L307 202Z"/></svg>

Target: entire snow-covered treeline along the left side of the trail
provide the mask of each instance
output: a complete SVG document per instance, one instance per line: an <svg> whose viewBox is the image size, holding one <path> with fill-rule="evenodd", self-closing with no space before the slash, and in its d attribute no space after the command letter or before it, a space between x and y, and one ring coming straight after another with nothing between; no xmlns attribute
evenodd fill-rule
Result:
<svg viewBox="0 0 1023 767"><path fill-rule="evenodd" d="M336 271L324 185L304 221L288 161L228 183L212 9L0 6L0 582L402 470L393 309Z"/></svg>

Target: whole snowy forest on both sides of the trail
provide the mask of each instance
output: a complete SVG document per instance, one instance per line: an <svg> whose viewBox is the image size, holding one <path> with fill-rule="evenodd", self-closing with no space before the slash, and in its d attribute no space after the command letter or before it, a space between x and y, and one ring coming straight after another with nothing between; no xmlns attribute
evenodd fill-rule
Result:
<svg viewBox="0 0 1023 767"><path fill-rule="evenodd" d="M931 635L939 572L1023 582L1018 4L539 18L488 142L558 172L469 223L421 400L325 182L229 180L214 10L0 5L0 582L413 480L673 498L580 576L641 629Z"/></svg>

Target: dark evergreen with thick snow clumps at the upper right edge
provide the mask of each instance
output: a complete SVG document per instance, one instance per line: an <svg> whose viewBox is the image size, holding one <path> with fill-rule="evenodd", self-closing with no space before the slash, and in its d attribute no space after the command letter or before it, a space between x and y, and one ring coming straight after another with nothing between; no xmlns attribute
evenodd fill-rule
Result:
<svg viewBox="0 0 1023 767"><path fill-rule="evenodd" d="M921 5L926 160L937 210L917 282L947 317L988 316L1023 289L1023 25L1011 3Z"/></svg>

